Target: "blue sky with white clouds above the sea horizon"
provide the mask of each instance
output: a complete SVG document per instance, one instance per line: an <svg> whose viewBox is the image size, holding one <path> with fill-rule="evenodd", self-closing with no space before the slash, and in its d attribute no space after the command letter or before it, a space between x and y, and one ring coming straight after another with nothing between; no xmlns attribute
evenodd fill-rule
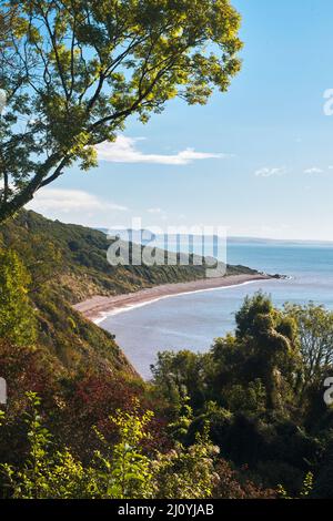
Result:
<svg viewBox="0 0 333 521"><path fill-rule="evenodd" d="M204 106L131 119L98 168L73 167L30 208L93 227L225 227L333 241L333 2L233 0L243 67Z"/></svg>

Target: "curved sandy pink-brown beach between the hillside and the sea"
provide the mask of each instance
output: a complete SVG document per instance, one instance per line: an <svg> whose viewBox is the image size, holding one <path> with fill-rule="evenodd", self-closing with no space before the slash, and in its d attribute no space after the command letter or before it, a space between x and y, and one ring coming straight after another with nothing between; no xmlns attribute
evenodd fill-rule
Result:
<svg viewBox="0 0 333 521"><path fill-rule="evenodd" d="M140 305L145 305L161 298L183 295L186 293L204 292L242 284L266 280L272 277L269 275L231 275L229 277L205 278L190 283L163 284L152 288L139 289L134 293L117 295L114 297L94 296L73 307L85 318L97 324L107 318L108 315L129 310Z"/></svg>

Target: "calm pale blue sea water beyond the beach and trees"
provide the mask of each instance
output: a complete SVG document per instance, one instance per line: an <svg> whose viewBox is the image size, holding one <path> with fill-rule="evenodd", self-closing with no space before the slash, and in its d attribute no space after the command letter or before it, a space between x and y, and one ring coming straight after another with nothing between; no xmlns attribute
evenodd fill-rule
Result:
<svg viewBox="0 0 333 521"><path fill-rule="evenodd" d="M292 278L178 295L109 316L101 324L115 334L144 378L151 376L158 351L205 351L214 338L232 331L244 297L259 289L270 294L276 306L313 300L333 309L333 245L232 243L228 262Z"/></svg>

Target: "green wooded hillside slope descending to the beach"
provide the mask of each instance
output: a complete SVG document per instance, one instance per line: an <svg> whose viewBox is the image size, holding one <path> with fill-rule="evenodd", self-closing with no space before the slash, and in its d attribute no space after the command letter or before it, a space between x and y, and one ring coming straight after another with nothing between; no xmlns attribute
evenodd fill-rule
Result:
<svg viewBox="0 0 333 521"><path fill-rule="evenodd" d="M107 260L105 234L52 222L22 211L0 228L0 247L14 249L28 267L40 344L65 370L107 365L134 372L112 335L88 323L71 305L93 295L115 295L158 284L203 278L204 266L119 266ZM229 274L251 273L229 266Z"/></svg>

